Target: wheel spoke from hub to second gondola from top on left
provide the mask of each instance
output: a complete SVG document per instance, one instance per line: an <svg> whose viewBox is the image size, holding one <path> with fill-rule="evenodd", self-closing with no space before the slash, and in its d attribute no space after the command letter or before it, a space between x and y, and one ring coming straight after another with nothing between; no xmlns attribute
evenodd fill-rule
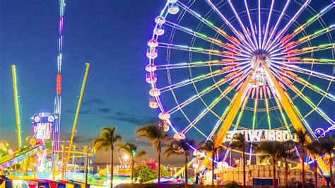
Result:
<svg viewBox="0 0 335 188"><path fill-rule="evenodd" d="M205 40L207 42L211 42L211 44L217 45L218 47L223 47L224 49L228 49L230 52L235 53L237 56L242 56L242 57L249 57L249 55L242 54L242 50L238 49L235 45L232 45L230 43L224 43L221 40L208 37L202 33L195 32L193 30L190 30L189 28L184 28L180 25L177 25L175 23L171 23L169 21L165 22L165 25L170 26L171 28L176 28L177 30L181 30L184 33L187 33L189 35L193 35L194 37L197 37L201 40Z"/></svg>

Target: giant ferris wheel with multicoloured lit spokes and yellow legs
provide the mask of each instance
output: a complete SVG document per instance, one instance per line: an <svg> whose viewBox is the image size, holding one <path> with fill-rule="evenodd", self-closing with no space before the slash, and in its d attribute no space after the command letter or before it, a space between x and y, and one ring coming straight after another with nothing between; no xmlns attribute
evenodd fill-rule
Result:
<svg viewBox="0 0 335 188"><path fill-rule="evenodd" d="M323 136L334 127L334 5L168 0L146 51L149 107L175 139L216 135L221 144L228 131L256 129Z"/></svg>

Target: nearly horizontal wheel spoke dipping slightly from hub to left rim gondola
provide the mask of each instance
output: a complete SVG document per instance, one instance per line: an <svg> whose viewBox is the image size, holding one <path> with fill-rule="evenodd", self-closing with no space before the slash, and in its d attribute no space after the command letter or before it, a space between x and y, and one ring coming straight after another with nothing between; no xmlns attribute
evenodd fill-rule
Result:
<svg viewBox="0 0 335 188"><path fill-rule="evenodd" d="M241 66L243 64L249 63L248 58L245 59L222 59L222 60L212 60L212 61L195 61L191 63L178 63L178 64L160 64L156 66L158 71L166 69L183 69L183 68L193 68L202 66Z"/></svg>

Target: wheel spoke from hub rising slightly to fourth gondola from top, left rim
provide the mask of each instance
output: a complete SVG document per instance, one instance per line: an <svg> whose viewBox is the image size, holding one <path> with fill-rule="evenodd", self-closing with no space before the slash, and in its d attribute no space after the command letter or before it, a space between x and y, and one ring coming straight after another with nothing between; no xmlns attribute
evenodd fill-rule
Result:
<svg viewBox="0 0 335 188"><path fill-rule="evenodd" d="M228 52L228 51L220 51L218 49L203 49L201 47L187 47L183 45L173 45L173 44L167 44L167 43L158 43L158 47L163 47L167 49L178 49L182 51L188 51L188 52L196 52L201 54L210 54L215 55L217 57L225 57L228 59L239 59L239 57L235 57L235 53Z"/></svg>

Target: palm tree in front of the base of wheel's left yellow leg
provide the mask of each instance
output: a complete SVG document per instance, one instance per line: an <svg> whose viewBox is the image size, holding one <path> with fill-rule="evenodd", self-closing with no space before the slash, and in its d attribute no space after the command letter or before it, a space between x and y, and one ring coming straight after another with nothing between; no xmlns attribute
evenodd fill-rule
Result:
<svg viewBox="0 0 335 188"><path fill-rule="evenodd" d="M212 187L214 187L214 162L215 162L215 155L216 153L223 150L222 146L216 147L216 136L213 136L212 140L208 141L201 141L199 143L199 148L206 153L211 153L212 155Z"/></svg>

